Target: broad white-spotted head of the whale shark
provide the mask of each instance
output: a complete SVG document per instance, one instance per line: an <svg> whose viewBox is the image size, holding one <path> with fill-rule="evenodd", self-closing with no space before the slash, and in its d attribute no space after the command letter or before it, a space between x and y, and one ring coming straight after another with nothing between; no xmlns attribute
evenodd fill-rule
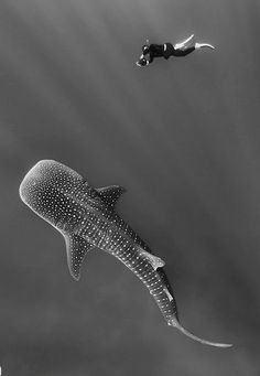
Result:
<svg viewBox="0 0 260 376"><path fill-rule="evenodd" d="M43 219L56 226L69 214L69 193L83 178L66 165L52 161L37 162L24 176L20 189L21 200Z"/></svg>

